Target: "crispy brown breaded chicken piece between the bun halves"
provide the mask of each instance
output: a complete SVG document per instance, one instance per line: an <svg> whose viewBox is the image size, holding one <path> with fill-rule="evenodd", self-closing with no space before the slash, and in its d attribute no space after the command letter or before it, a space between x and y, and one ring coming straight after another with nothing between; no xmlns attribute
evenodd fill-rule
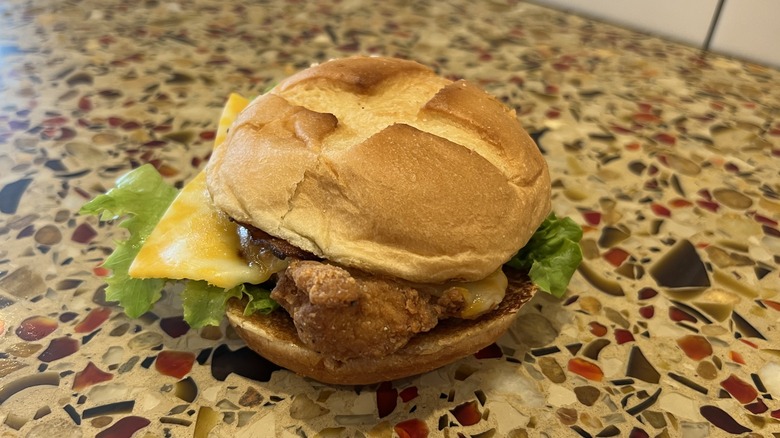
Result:
<svg viewBox="0 0 780 438"><path fill-rule="evenodd" d="M397 280L318 261L294 260L271 293L292 316L300 339L332 359L381 357L439 319L459 315L456 288L439 294Z"/></svg>

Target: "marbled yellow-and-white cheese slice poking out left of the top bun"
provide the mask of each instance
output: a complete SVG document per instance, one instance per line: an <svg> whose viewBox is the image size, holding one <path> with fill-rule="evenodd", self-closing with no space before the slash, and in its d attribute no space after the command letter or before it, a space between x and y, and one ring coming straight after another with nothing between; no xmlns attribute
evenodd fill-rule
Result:
<svg viewBox="0 0 780 438"><path fill-rule="evenodd" d="M248 103L231 94L219 120L215 147L222 144L228 128ZM130 266L130 276L205 280L223 288L267 280L271 269L249 265L239 255L239 248L236 225L212 205L206 176L201 172L181 190L146 239Z"/></svg>

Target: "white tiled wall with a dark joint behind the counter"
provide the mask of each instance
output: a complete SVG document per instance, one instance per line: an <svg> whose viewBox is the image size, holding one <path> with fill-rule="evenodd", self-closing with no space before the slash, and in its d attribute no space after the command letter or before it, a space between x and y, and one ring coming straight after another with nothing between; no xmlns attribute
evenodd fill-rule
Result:
<svg viewBox="0 0 780 438"><path fill-rule="evenodd" d="M637 29L735 58L780 67L780 1L724 0L712 39L718 0L531 0Z"/></svg>

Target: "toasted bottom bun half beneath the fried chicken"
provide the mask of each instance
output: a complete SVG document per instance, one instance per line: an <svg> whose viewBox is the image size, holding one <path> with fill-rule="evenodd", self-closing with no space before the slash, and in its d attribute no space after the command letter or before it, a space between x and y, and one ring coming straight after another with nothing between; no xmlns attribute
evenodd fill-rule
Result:
<svg viewBox="0 0 780 438"><path fill-rule="evenodd" d="M517 311L536 293L536 286L524 274L514 270L506 274L509 287L495 310L473 320L443 320L433 330L413 337L395 353L379 358L337 361L324 357L298 339L292 319L281 309L269 315L244 316L246 303L232 299L227 317L249 348L290 371L324 383L379 383L434 370L495 342L512 325Z"/></svg>

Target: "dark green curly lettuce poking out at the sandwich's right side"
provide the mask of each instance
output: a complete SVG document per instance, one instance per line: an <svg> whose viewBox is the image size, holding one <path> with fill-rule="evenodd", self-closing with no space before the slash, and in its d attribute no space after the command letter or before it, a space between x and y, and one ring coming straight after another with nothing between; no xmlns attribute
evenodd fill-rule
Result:
<svg viewBox="0 0 780 438"><path fill-rule="evenodd" d="M551 213L507 264L528 271L539 289L560 298L582 262L582 228L570 218Z"/></svg>

